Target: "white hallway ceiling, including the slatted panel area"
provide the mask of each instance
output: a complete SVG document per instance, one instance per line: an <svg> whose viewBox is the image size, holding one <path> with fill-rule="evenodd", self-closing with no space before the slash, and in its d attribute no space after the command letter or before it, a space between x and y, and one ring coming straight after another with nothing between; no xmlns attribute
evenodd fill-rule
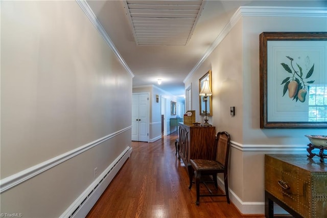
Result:
<svg viewBox="0 0 327 218"><path fill-rule="evenodd" d="M180 6L180 2L183 2L183 6ZM197 19L194 9L187 11L189 7L187 5L190 5L190 2L191 5L198 7L201 1L128 0L126 2L123 0L109 0L87 1L87 4L97 16L114 46L134 74L133 86L153 84L176 96L184 95L183 80L192 72L192 69L203 58L206 51L211 48L212 43L240 6L327 7L327 1L313 0L211 0L201 3L202 6L200 4L198 9L195 7L195 10L200 11L200 16ZM128 5L132 3L141 3L141 5L130 5L129 7ZM156 4L155 7L158 9L153 5L151 6L153 3ZM144 10L137 9L137 7ZM176 7L186 9L187 12L180 11L179 13L178 10L173 10ZM164 16L163 14L167 19L165 22L158 19ZM181 14L191 14L193 17L191 23L196 24L195 27L193 28L192 25L185 23L186 28L182 26L176 28L176 25L178 26L181 21L180 19L173 21L175 26L169 23L172 21L168 20L168 16L170 18L181 18L183 17ZM153 17L152 19L157 25L147 23L147 19L151 17ZM142 23L142 26L138 26L139 23ZM165 26L166 29L158 29L160 25ZM141 33L146 33L147 37L143 37L146 34ZM160 37L158 33L160 33ZM171 36L173 40L168 40L167 37L162 36ZM145 43L147 45L144 45ZM154 43L160 45L153 45ZM176 45L178 43L180 45ZM162 79L161 85L157 84L157 79Z"/></svg>

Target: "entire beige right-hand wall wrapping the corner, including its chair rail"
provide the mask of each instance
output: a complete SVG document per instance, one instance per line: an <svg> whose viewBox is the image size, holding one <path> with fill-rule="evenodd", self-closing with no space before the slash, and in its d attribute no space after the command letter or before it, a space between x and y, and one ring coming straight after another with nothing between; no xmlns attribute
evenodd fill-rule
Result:
<svg viewBox="0 0 327 218"><path fill-rule="evenodd" d="M264 212L264 154L306 155L309 141L305 135L327 134L326 129L260 129L259 35L264 31L326 32L327 19L241 16L185 81L185 88L192 83L193 110L198 112L198 79L212 70L213 117L209 123L216 126L216 132L226 130L231 135L229 188L242 213ZM229 115L230 106L236 107L235 117Z"/></svg>

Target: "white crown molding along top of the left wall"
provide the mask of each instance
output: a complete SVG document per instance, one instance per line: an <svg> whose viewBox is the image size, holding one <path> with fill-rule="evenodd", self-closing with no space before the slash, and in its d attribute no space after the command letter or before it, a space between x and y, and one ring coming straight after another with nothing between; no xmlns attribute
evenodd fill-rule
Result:
<svg viewBox="0 0 327 218"><path fill-rule="evenodd" d="M76 0L77 4L81 7L81 9L84 11L85 15L89 18L91 23L95 26L95 28L99 31L100 35L103 37L107 45L110 47L110 49L113 51L113 53L116 55L116 57L119 59L123 67L127 70L127 72L134 77L134 74L132 73L131 69L129 69L127 63L125 62L124 58L121 56L121 54L118 52L116 47L113 45L110 37L104 30L103 26L101 25L100 21L98 20L97 16L94 14L92 9L89 7L87 2L85 0Z"/></svg>

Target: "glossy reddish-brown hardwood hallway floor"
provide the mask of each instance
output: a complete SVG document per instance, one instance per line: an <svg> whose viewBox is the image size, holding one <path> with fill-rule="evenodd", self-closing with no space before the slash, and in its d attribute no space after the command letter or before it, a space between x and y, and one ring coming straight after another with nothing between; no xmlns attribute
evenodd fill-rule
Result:
<svg viewBox="0 0 327 218"><path fill-rule="evenodd" d="M176 135L132 142L132 154L87 217L255 217L242 215L225 197L201 197L175 156ZM201 191L206 191L204 186Z"/></svg>

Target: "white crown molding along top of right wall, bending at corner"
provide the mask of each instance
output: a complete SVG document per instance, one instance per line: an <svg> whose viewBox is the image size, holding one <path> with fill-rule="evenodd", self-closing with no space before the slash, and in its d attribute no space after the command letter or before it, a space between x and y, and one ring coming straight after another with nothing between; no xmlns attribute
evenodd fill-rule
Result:
<svg viewBox="0 0 327 218"><path fill-rule="evenodd" d="M216 49L219 43L229 33L237 21L243 16L301 16L301 17L327 17L325 8L300 8L300 7L240 7L230 18L228 24L223 28L212 45L206 50L203 57L195 64L191 72L185 77L185 83L195 71L201 66L206 58Z"/></svg>

